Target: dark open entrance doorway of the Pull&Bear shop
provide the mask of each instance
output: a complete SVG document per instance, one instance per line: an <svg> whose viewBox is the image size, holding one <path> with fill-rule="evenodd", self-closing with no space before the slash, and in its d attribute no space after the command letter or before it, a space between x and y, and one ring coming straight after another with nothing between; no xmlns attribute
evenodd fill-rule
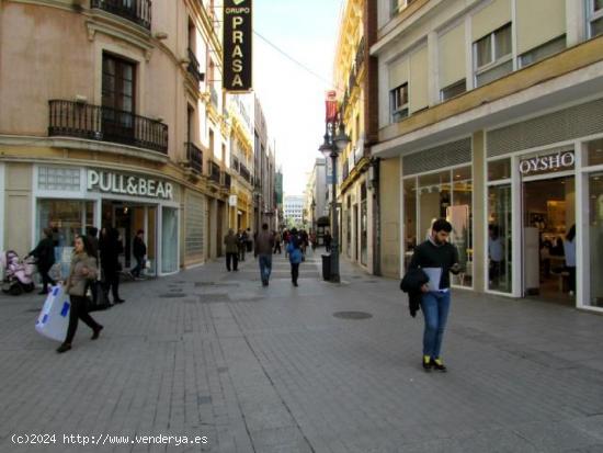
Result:
<svg viewBox="0 0 603 453"><path fill-rule="evenodd" d="M157 274L157 206L103 200L102 225L107 223L120 231L124 247L120 262L124 270L136 264L133 254L134 238L138 230L145 231L148 260L146 273Z"/></svg>

